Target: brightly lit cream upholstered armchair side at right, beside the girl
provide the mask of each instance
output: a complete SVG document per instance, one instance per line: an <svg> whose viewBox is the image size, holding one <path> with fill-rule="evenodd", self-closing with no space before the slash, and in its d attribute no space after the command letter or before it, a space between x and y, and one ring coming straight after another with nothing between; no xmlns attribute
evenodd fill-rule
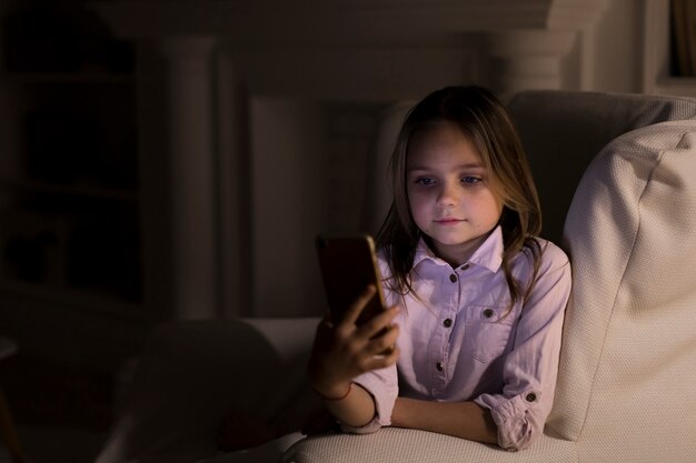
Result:
<svg viewBox="0 0 696 463"><path fill-rule="evenodd" d="M565 238L574 289L548 426L581 443L581 461L693 461L696 120L606 147Z"/></svg>

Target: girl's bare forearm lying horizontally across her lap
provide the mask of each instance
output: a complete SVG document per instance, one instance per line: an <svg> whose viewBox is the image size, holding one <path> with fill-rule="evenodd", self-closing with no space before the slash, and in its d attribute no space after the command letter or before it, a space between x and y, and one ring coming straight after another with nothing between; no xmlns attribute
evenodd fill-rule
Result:
<svg viewBox="0 0 696 463"><path fill-rule="evenodd" d="M490 412L474 402L431 402L398 397L391 425L412 427L489 444L498 443Z"/></svg>

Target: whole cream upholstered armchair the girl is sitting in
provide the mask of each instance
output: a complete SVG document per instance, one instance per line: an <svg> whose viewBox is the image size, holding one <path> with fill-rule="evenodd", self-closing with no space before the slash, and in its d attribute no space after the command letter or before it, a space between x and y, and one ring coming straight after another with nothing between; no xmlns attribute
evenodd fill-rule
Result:
<svg viewBox="0 0 696 463"><path fill-rule="evenodd" d="M295 443L284 462L694 460L696 100L549 91L509 104L547 200L545 234L563 230L574 269L545 434L518 453L415 430L327 434ZM301 380L315 324L163 326L98 463L212 457L230 410L300 419L317 405Z"/></svg>

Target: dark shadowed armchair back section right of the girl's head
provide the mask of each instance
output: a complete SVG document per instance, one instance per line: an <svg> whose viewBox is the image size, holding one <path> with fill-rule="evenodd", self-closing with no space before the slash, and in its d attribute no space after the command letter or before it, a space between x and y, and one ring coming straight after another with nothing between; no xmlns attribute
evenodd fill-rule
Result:
<svg viewBox="0 0 696 463"><path fill-rule="evenodd" d="M558 242L575 189L591 159L616 137L696 115L696 100L625 93L534 90L508 108L529 158L544 238Z"/></svg>

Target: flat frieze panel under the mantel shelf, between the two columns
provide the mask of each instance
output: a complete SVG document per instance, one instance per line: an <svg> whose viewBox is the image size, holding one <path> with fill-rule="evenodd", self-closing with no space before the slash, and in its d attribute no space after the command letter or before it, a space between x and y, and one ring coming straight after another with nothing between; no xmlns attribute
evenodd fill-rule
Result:
<svg viewBox="0 0 696 463"><path fill-rule="evenodd" d="M469 34L469 39L475 38ZM460 39L460 40L459 40ZM419 98L479 76L477 42L424 44L229 46L238 72L256 94L365 102Z"/></svg>

